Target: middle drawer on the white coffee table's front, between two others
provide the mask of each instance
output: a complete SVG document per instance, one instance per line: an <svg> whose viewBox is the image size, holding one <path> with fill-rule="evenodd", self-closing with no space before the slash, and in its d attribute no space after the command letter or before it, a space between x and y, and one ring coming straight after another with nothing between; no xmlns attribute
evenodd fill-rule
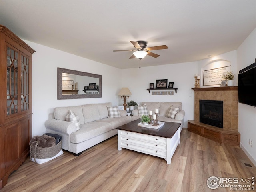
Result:
<svg viewBox="0 0 256 192"><path fill-rule="evenodd" d="M121 136L121 142L135 144L138 146L144 146L147 148L151 148L154 150L166 150L166 144L158 143L158 142L147 142L145 140L138 140L134 138L127 138Z"/></svg>

